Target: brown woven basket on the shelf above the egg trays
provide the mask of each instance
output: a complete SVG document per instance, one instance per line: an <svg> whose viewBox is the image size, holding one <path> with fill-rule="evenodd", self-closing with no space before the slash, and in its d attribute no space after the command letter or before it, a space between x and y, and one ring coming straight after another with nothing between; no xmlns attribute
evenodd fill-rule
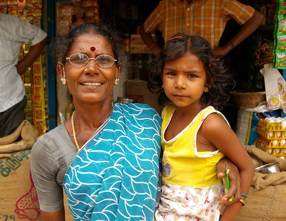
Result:
<svg viewBox="0 0 286 221"><path fill-rule="evenodd" d="M260 102L266 101L265 91L260 91L260 92L233 91L232 95L235 104L237 106L237 109L239 110L257 107L257 105Z"/></svg>

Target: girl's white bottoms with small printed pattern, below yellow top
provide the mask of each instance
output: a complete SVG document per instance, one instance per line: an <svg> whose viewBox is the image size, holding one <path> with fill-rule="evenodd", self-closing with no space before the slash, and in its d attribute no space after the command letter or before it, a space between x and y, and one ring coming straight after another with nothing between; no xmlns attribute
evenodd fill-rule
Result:
<svg viewBox="0 0 286 221"><path fill-rule="evenodd" d="M223 196L223 183L199 188L163 182L155 220L218 221L221 206L217 198L221 196Z"/></svg>

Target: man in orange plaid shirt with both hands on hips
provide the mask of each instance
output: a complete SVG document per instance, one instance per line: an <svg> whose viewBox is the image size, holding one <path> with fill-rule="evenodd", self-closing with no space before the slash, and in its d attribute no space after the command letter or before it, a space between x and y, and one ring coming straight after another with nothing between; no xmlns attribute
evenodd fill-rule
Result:
<svg viewBox="0 0 286 221"><path fill-rule="evenodd" d="M218 47L227 21L232 18L243 26L228 43ZM162 31L165 41L180 31L200 35L210 41L215 55L223 56L253 33L262 20L262 13L236 0L162 0L139 31L156 56L161 48L150 34L156 29Z"/></svg>

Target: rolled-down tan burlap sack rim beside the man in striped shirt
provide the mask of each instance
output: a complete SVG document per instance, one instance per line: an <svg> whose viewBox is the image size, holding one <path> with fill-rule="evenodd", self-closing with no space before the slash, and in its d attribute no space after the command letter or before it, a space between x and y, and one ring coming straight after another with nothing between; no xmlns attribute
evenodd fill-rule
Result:
<svg viewBox="0 0 286 221"><path fill-rule="evenodd" d="M31 149L36 142L38 130L24 120L13 134L0 138L0 153ZM21 140L18 138L21 136Z"/></svg>

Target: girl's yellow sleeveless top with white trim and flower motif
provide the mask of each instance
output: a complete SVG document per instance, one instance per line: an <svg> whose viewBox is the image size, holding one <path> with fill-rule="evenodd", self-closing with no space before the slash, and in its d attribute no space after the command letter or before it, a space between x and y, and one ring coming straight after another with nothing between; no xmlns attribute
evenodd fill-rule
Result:
<svg viewBox="0 0 286 221"><path fill-rule="evenodd" d="M217 177L217 163L225 155L219 150L197 152L196 135L209 114L217 113L227 122L225 116L212 106L208 106L200 111L182 132L166 141L164 134L174 112L174 104L168 105L162 112L161 143L164 151L162 160L164 182L192 187L208 187L221 183L222 179Z"/></svg>

